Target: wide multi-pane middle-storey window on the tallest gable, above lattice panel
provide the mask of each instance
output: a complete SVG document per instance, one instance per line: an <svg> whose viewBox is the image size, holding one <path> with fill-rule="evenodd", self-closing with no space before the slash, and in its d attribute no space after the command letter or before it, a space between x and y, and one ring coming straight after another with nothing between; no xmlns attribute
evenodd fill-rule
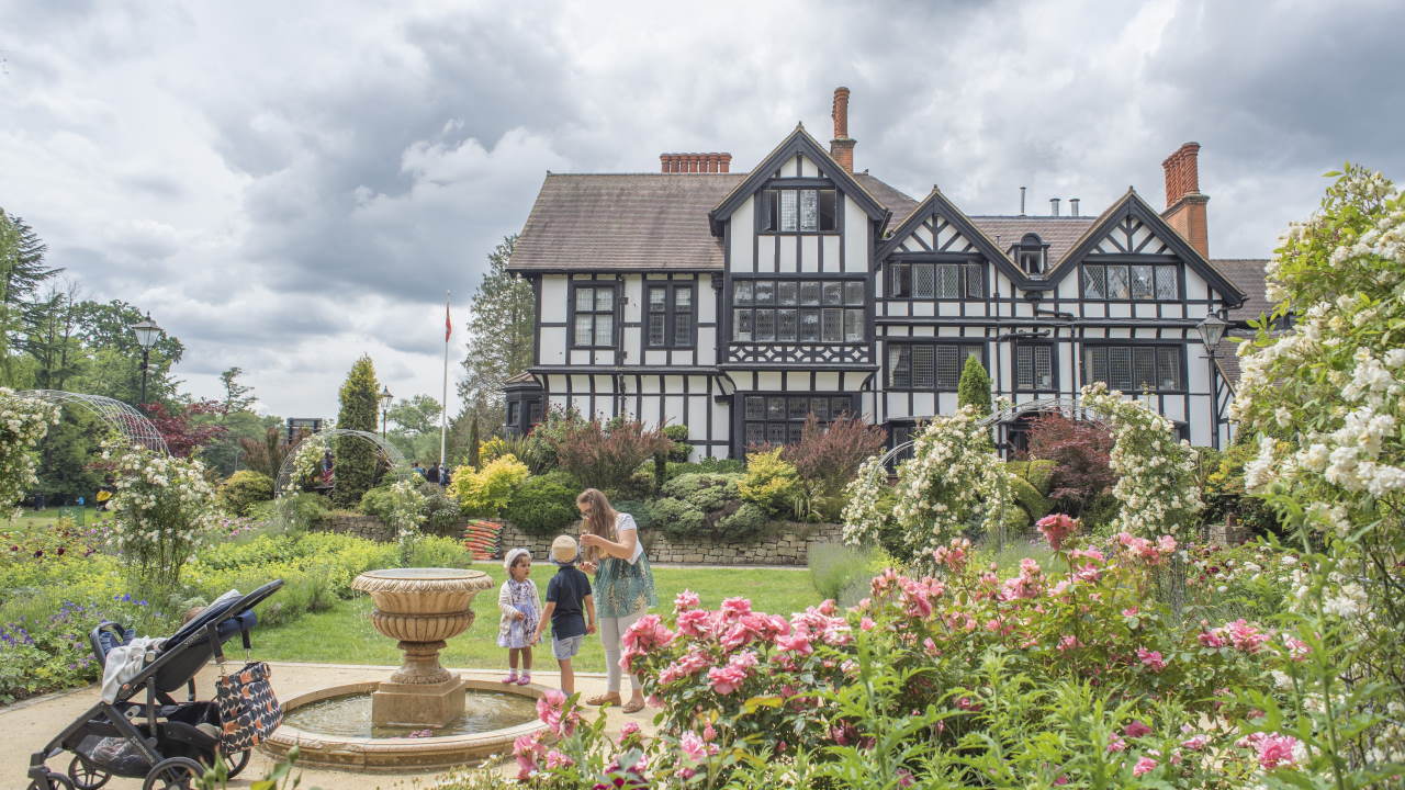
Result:
<svg viewBox="0 0 1405 790"><path fill-rule="evenodd" d="M868 278L867 276L828 276L819 273L801 273L798 276L790 274L756 274L756 276L732 276L731 291L728 292L728 335L729 343L733 344L767 344L767 346L863 346L873 340L873 320L870 312L870 295L868 295ZM759 283L770 284L769 288L759 290L756 285ZM795 284L795 301L794 304L781 304L783 291L790 283ZM743 285L752 292L749 301L738 301L738 287ZM816 284L813 290L813 304L805 304L806 284ZM836 304L826 304L826 284L833 284L839 287L839 301ZM860 290L851 288L851 285L861 285ZM764 291L769 299L762 304L756 298L757 291ZM861 301L856 301L851 297L861 297ZM795 329L795 339L780 339L783 326L787 322L783 318L783 312L794 312L794 322L791 323ZM830 313L837 312L837 328L839 340L825 340L825 328L830 326L828 322L835 320ZM746 319L743 320L743 313ZM767 326L771 329L769 339L760 339L757 335L757 318L762 313L771 313L767 319ZM806 315L812 313L815 318L815 337L813 340L806 340L805 333L811 326L806 323ZM854 320L860 320L861 333L858 337L850 339L847 333L847 313L856 313ZM738 336L738 328L742 325L750 326L750 337L742 339Z"/></svg>

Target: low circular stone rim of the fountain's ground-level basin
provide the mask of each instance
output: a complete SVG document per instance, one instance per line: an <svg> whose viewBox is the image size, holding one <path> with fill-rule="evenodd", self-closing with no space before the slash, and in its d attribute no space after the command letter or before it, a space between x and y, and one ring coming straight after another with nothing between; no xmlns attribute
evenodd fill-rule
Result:
<svg viewBox="0 0 1405 790"><path fill-rule="evenodd" d="M524 701L534 704L548 690L547 686L535 683L504 686L496 680L466 679L464 685L469 693L469 706L472 706L473 692L517 694ZM318 689L287 700L284 713L298 718L295 715L298 708L348 694L371 694L378 686L379 683L370 682ZM507 753L517 737L545 728L547 725L532 714L528 721L482 732L434 735L431 738L361 738L316 732L284 721L259 748L274 758L284 758L288 749L298 746L299 766L391 773L452 768Z"/></svg>

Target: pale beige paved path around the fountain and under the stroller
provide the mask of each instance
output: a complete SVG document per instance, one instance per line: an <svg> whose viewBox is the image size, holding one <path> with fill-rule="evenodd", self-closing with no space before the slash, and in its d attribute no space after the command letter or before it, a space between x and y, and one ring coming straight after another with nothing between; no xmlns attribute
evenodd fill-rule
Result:
<svg viewBox="0 0 1405 790"><path fill-rule="evenodd" d="M273 666L274 689L277 690L280 699L292 699L298 694L326 686L379 680L395 669L393 666L292 662L270 662L270 665ZM500 669L459 669L459 672L469 678L497 679L502 676ZM555 672L534 672L532 679L548 686L555 686L559 680ZM208 666L197 675L195 687L201 690L202 699L209 699L209 694L214 693L214 666ZM576 689L583 692L583 696L603 692L604 685L604 675L576 673ZM0 734L4 734L6 739L4 748L0 748L0 787L25 787L28 784L25 772L30 768L30 755L42 748L79 714L91 707L97 701L97 697L98 687L89 686L0 708ZM618 707L613 707L610 708L608 730L611 732L618 732L620 727L622 727L625 721L635 721L639 727L652 730L655 713L656 711L652 708L645 708L632 715L625 715ZM65 752L65 755L52 759L49 762L49 768L63 770L67 768L72 756L72 753ZM510 758L507 762L511 762ZM249 787L251 782L263 779L271 765L273 760L256 751L250 766L244 769L239 779L232 780L229 787ZM513 769L503 765L500 770ZM391 790L416 787L419 790L424 790L427 787L433 787L434 779L440 776L443 776L443 773L406 773L392 776L308 769L302 772L301 787L303 790L309 790L312 787L319 787L320 790ZM104 790L139 790L140 786L142 782L139 779L114 777L104 786Z"/></svg>

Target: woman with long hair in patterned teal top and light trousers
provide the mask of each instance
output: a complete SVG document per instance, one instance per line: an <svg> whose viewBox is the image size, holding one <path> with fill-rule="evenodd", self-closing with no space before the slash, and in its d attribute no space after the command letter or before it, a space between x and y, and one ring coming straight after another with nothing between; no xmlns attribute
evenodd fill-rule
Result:
<svg viewBox="0 0 1405 790"><path fill-rule="evenodd" d="M580 536L580 544L586 547L580 568L596 575L597 623L608 679L606 693L586 701L620 704L620 638L651 606L659 603L653 596L653 572L649 571L649 558L643 555L634 516L615 512L606 495L594 488L580 492L576 507L586 527ZM629 687L634 693L624 711L638 713L643 708L643 687L638 675L629 676Z"/></svg>

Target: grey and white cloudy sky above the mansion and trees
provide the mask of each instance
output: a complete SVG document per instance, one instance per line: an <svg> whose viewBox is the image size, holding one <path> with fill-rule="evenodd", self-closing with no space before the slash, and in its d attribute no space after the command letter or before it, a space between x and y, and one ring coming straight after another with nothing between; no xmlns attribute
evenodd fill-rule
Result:
<svg viewBox="0 0 1405 790"><path fill-rule="evenodd" d="M1267 256L1343 160L1405 179L1398 1L676 6L0 0L0 207L184 340L195 394L239 365L332 416L361 353L438 395L444 291L461 326L547 170L745 170L828 141L837 84L858 169L969 214L1161 205L1198 141L1215 257Z"/></svg>

